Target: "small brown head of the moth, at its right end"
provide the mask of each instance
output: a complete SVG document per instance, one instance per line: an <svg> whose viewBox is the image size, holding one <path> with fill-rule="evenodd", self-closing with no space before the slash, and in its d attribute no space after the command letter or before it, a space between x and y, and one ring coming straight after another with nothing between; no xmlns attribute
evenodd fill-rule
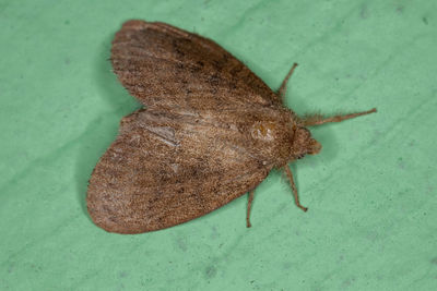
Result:
<svg viewBox="0 0 437 291"><path fill-rule="evenodd" d="M312 138L311 133L303 126L294 125L294 135L292 142L292 157L303 158L305 155L319 154L321 144Z"/></svg>

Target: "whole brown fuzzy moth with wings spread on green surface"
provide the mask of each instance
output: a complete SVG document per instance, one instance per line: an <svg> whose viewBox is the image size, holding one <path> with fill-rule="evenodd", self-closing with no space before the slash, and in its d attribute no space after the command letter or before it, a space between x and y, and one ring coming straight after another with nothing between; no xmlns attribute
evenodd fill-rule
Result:
<svg viewBox="0 0 437 291"><path fill-rule="evenodd" d="M146 109L122 118L117 140L87 191L93 221L140 233L203 216L253 190L287 163L319 153L306 126L376 112L300 118L283 98L294 64L275 93L214 41L165 23L128 21L111 58L121 84Z"/></svg>

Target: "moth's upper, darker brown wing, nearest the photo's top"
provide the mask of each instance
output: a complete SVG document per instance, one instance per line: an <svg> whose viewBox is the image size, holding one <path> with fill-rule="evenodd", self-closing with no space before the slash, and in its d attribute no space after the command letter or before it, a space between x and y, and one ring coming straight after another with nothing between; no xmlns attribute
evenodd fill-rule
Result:
<svg viewBox="0 0 437 291"><path fill-rule="evenodd" d="M262 80L221 46L168 24L126 22L113 40L111 62L121 84L150 108L281 105Z"/></svg>

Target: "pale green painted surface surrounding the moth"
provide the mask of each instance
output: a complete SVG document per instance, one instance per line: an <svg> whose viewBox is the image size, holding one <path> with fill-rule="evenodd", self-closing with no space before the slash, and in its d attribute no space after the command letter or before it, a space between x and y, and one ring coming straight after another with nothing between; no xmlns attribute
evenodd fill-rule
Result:
<svg viewBox="0 0 437 291"><path fill-rule="evenodd" d="M87 179L140 107L111 73L128 19L214 39L296 112L378 113L247 196L170 229L110 234ZM436 290L435 1L0 1L1 290Z"/></svg>

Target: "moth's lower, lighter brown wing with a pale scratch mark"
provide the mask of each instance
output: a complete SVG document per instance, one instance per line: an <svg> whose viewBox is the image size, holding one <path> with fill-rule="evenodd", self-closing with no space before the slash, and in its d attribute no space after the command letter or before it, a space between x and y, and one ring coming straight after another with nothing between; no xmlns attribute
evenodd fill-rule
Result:
<svg viewBox="0 0 437 291"><path fill-rule="evenodd" d="M269 169L233 126L172 114L147 109L122 119L88 184L88 213L97 226L119 233L176 226L267 177Z"/></svg>

